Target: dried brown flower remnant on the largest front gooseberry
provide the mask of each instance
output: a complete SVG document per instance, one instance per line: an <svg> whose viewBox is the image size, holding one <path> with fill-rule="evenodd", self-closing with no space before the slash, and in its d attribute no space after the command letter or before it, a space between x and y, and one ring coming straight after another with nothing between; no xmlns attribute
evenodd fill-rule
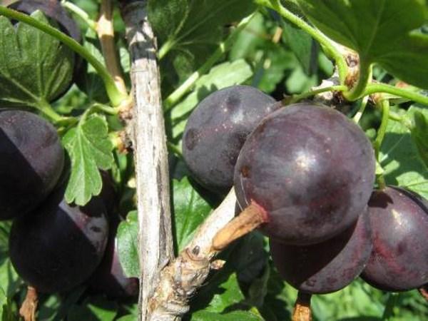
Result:
<svg viewBox="0 0 428 321"><path fill-rule="evenodd" d="M220 251L226 248L234 240L241 236L250 233L260 224L266 223L267 217L265 210L252 201L240 215L236 216L224 228L218 231L213 238L212 248L215 251Z"/></svg>

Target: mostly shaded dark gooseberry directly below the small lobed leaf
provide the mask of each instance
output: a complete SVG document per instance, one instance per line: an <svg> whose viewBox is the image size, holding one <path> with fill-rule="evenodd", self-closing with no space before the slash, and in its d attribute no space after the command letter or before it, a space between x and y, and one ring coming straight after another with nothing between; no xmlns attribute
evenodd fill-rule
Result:
<svg viewBox="0 0 428 321"><path fill-rule="evenodd" d="M37 291L64 292L90 277L103 258L107 238L108 220L101 200L70 206L59 190L34 213L14 220L11 263Z"/></svg>

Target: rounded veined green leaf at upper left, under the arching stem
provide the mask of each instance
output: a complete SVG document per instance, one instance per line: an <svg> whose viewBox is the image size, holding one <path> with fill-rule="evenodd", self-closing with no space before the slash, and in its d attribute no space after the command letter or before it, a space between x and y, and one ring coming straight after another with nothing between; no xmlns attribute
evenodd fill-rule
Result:
<svg viewBox="0 0 428 321"><path fill-rule="evenodd" d="M31 16L48 24L36 11ZM0 103L34 106L52 101L71 84L74 54L54 37L28 24L0 17Z"/></svg>

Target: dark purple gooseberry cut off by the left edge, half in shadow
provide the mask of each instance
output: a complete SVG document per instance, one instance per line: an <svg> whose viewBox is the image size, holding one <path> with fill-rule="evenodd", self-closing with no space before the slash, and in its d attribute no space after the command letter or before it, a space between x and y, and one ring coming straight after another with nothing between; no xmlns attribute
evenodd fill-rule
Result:
<svg viewBox="0 0 428 321"><path fill-rule="evenodd" d="M24 215L54 189L64 152L56 129L34 113L0 111L0 219Z"/></svg>

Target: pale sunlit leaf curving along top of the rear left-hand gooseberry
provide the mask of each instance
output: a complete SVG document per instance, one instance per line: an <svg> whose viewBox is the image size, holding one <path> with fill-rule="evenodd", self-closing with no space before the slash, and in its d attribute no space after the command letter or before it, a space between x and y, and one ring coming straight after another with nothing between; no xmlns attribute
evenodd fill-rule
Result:
<svg viewBox="0 0 428 321"><path fill-rule="evenodd" d="M195 89L171 112L173 120L173 136L183 133L188 114L198 105L198 102L213 91L243 83L253 75L250 65L243 59L221 63L211 68L210 73L200 77L195 83Z"/></svg>

